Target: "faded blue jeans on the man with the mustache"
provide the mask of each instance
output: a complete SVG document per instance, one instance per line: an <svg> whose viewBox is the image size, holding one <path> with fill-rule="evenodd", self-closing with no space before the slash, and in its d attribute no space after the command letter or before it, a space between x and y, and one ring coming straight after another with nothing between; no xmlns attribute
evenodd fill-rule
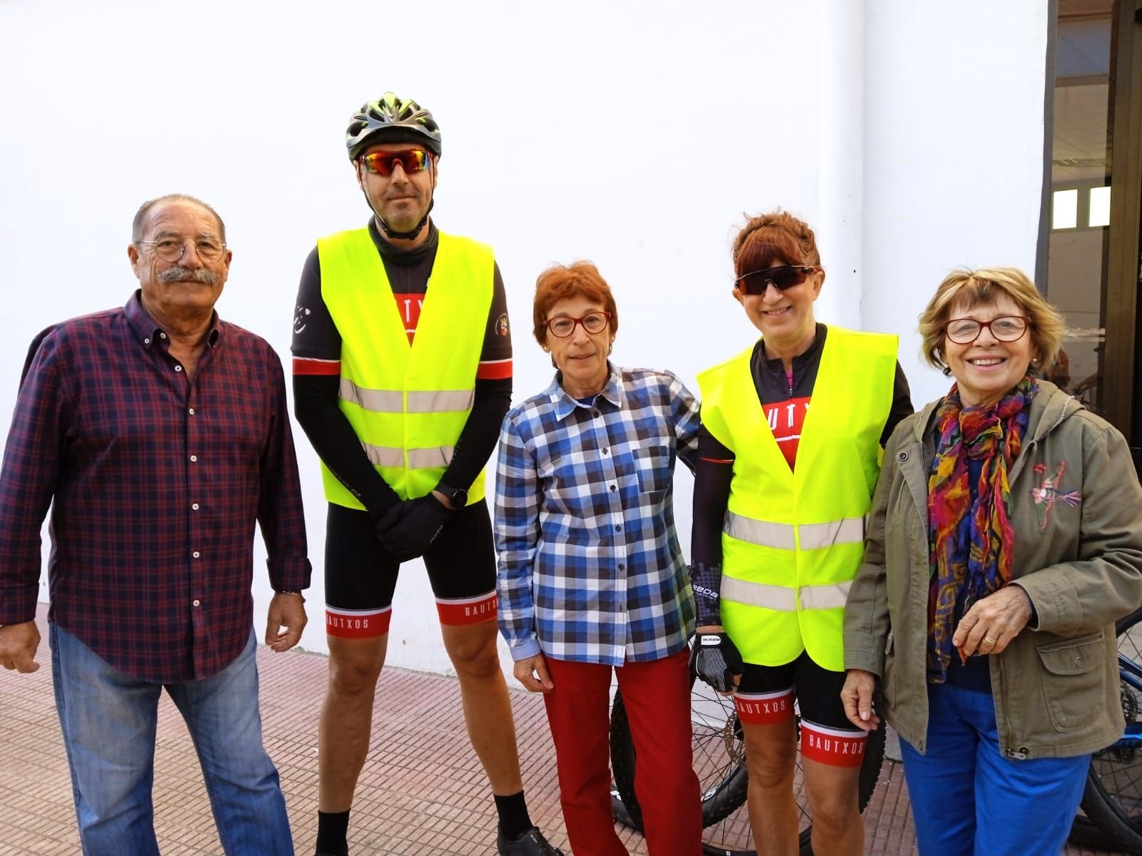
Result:
<svg viewBox="0 0 1142 856"><path fill-rule="evenodd" d="M51 679L86 856L158 856L154 738L162 685L113 669L53 623ZM256 639L207 680L168 684L202 765L227 856L292 856L278 770L262 745Z"/></svg>

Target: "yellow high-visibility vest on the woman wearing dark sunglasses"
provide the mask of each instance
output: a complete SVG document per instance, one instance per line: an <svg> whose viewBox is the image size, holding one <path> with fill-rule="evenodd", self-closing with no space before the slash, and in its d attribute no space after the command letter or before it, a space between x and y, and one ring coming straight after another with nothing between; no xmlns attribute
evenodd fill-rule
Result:
<svg viewBox="0 0 1142 856"><path fill-rule="evenodd" d="M842 671L845 598L864 555L896 337L829 328L795 470L757 397L751 354L698 375L702 425L734 453L722 622L747 663L782 665L807 651Z"/></svg>

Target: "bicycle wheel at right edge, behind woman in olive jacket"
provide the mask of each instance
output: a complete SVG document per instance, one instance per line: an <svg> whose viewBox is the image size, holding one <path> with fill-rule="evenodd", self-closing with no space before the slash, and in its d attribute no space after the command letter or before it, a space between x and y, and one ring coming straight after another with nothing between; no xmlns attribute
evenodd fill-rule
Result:
<svg viewBox="0 0 1142 856"><path fill-rule="evenodd" d="M1142 854L1142 609L1119 620L1118 673L1126 734L1091 759L1083 810L1120 848Z"/></svg>

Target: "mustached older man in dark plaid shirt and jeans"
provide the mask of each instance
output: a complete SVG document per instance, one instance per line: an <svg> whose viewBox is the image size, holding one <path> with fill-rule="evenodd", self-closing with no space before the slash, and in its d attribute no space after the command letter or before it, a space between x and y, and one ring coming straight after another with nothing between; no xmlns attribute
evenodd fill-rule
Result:
<svg viewBox="0 0 1142 856"><path fill-rule="evenodd" d="M32 672L40 526L51 506L51 678L88 856L158 854L155 725L163 687L186 720L222 849L293 853L262 743L250 597L266 542L265 640L305 627L305 524L281 362L214 306L222 218L152 200L127 248L121 309L32 342L0 470L0 665Z"/></svg>

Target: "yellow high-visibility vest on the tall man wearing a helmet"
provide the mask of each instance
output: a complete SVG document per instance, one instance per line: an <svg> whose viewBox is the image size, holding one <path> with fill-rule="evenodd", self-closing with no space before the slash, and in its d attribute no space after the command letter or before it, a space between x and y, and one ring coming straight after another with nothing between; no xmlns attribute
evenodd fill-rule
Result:
<svg viewBox="0 0 1142 856"><path fill-rule="evenodd" d="M492 249L440 233L429 288L409 345L369 231L317 241L321 297L341 334L340 410L369 460L401 499L440 482L472 412L492 300ZM325 499L363 508L324 463ZM484 495L484 473L467 487Z"/></svg>

